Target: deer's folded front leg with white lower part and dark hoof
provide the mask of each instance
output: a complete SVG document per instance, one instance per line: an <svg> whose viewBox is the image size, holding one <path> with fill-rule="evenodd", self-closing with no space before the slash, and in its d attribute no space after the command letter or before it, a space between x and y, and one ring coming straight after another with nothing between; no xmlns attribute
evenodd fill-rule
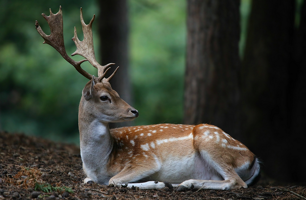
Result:
<svg viewBox="0 0 306 200"><path fill-rule="evenodd" d="M139 187L140 189L162 189L164 187L173 188L173 186L168 182L159 182L159 181L148 181L144 183L132 183L157 172L158 169L151 168L147 169L147 167L142 166L126 166L120 173L112 177L109 181L110 184L114 184L115 186L126 185L127 187Z"/></svg>

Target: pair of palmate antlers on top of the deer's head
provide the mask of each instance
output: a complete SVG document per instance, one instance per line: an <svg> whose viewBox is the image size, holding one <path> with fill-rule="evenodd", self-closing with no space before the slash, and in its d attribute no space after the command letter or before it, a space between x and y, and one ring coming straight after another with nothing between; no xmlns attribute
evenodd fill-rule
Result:
<svg viewBox="0 0 306 200"><path fill-rule="evenodd" d="M81 63L85 61L89 61L92 66L98 69L98 77L94 77L95 82L101 82L101 81L108 82L114 76L114 74L118 70L118 67L114 71L114 73L110 75L110 77L108 77L107 79L104 78L106 72L110 69L110 67L109 68L107 67L114 63L109 63L105 66L102 66L95 59L95 50L94 50L92 29L91 29L92 22L95 19L95 15L92 17L89 24L86 25L83 19L82 8L80 9L80 18L81 18L81 24L82 24L82 29L84 33L84 40L80 41L78 39L77 34L76 34L76 28L74 27L74 37L72 38L72 40L76 44L76 51L73 54L71 54L71 56L80 55L85 58L85 60L80 60L78 62L71 59L67 55L66 50L65 50L64 35L63 35L62 6L59 7L59 11L56 14L53 14L50 9L49 16L47 16L44 13L42 13L42 15L48 22L50 31L51 31L50 35L46 35L41 29L41 27L39 26L38 21L36 20L35 22L36 30L41 35L41 37L43 37L43 39L45 40L43 42L44 44L49 44L53 48L55 48L63 56L65 60L67 60L70 64L72 64L80 74L82 74L88 79L92 79L93 76L81 68Z"/></svg>

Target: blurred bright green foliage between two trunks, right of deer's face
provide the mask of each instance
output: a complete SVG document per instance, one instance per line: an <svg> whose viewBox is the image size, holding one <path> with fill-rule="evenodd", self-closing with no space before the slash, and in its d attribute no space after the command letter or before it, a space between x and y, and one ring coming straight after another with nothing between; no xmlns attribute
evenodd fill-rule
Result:
<svg viewBox="0 0 306 200"><path fill-rule="evenodd" d="M182 123L186 2L130 1L136 124Z"/></svg>

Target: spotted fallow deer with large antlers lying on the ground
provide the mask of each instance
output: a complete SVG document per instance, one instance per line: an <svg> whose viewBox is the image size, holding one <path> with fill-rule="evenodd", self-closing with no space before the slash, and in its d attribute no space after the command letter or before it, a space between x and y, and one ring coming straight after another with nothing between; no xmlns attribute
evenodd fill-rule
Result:
<svg viewBox="0 0 306 200"><path fill-rule="evenodd" d="M110 129L110 122L130 121L138 111L122 100L106 78L109 63L100 65L95 59L92 23L80 19L84 40L74 28L72 40L76 51L71 54L85 59L74 61L65 50L62 7L58 13L43 17L50 27L46 35L38 21L35 26L44 44L55 48L76 70L89 79L82 90L78 124L84 183L139 187L140 189L231 190L247 188L260 176L260 161L241 142L214 125L156 124ZM98 69L98 77L81 68L89 61Z"/></svg>

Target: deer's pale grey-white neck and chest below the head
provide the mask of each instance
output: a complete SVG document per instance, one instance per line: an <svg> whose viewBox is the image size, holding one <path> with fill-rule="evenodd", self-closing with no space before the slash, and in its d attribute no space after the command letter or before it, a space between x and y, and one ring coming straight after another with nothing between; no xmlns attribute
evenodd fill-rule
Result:
<svg viewBox="0 0 306 200"><path fill-rule="evenodd" d="M109 123L79 110L79 131L84 171L94 182L108 183L110 177L107 176L106 165L114 145Z"/></svg>

